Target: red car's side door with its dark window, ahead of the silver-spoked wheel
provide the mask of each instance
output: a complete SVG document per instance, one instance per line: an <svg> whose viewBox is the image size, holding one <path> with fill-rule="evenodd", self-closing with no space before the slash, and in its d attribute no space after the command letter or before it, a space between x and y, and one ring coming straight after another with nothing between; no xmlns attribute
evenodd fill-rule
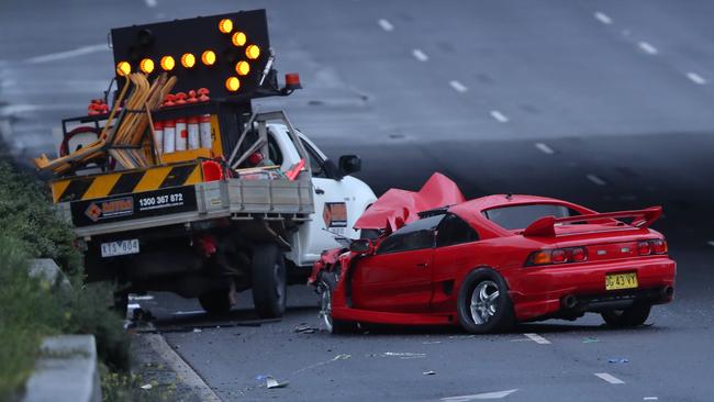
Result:
<svg viewBox="0 0 714 402"><path fill-rule="evenodd" d="M382 241L375 255L356 261L352 278L355 308L397 313L428 310L434 230L442 217L403 226Z"/></svg>

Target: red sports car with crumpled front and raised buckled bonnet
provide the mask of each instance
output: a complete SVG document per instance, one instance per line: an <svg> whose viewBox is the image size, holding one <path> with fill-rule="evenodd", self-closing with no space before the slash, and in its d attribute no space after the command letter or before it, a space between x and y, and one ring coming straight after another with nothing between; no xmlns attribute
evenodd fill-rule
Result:
<svg viewBox="0 0 714 402"><path fill-rule="evenodd" d="M487 333L585 312L640 325L674 292L676 264L648 228L660 214L534 196L465 201L435 174L419 192L377 200L355 226L378 235L324 252L309 283L332 332L382 323Z"/></svg>

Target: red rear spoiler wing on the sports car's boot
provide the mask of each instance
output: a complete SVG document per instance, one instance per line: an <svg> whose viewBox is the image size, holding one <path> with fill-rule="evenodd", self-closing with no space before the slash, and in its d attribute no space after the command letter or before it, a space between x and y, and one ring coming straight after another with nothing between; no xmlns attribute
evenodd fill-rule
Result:
<svg viewBox="0 0 714 402"><path fill-rule="evenodd" d="M633 227L647 227L651 225L659 216L662 214L661 206L650 206L644 210L634 210L634 211L618 211L618 212L605 212L605 213L591 213L585 215L576 215L567 217L555 217L553 215L543 216L523 231L523 235L526 237L555 237L556 228L555 225L560 223L572 223L572 222L598 222L598 221L609 221L617 220L624 217L632 217L633 221L629 223L629 226Z"/></svg>

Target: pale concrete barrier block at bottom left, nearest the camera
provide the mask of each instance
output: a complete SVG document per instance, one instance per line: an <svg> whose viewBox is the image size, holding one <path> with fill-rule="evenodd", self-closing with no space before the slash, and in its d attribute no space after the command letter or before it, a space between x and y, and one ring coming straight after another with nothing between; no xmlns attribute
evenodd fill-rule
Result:
<svg viewBox="0 0 714 402"><path fill-rule="evenodd" d="M24 402L101 402L93 335L45 338Z"/></svg>

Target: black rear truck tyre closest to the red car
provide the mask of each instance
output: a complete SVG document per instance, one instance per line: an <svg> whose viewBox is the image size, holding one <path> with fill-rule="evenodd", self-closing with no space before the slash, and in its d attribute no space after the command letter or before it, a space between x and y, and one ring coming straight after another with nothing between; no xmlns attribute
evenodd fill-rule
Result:
<svg viewBox="0 0 714 402"><path fill-rule="evenodd" d="M281 317L288 299L288 275L278 246L257 245L253 252L252 270L255 311L261 319Z"/></svg>

